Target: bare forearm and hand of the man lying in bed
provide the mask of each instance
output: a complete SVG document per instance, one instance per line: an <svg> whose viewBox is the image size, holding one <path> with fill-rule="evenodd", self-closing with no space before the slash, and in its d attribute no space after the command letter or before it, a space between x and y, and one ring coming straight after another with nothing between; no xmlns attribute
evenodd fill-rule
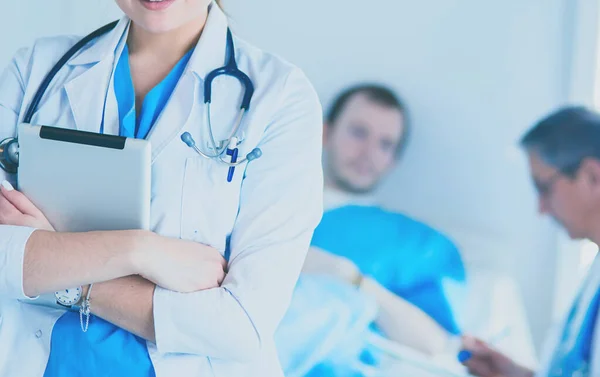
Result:
<svg viewBox="0 0 600 377"><path fill-rule="evenodd" d="M349 259L311 247L302 272L333 276L359 285L379 305L376 323L387 338L429 355L446 347L449 334L435 320L375 280L363 277Z"/></svg>

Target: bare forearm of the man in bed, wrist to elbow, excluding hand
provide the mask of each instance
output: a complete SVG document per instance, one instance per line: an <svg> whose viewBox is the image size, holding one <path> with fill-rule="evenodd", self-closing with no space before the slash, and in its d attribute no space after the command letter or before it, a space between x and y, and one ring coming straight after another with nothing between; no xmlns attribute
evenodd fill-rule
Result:
<svg viewBox="0 0 600 377"><path fill-rule="evenodd" d="M429 355L445 350L450 334L417 306L368 277L360 290L379 304L376 323L387 338Z"/></svg>

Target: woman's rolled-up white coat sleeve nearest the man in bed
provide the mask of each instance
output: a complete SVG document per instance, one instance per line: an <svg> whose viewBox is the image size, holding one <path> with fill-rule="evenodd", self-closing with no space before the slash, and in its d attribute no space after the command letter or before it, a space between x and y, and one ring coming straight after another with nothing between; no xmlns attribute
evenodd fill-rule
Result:
<svg viewBox="0 0 600 377"><path fill-rule="evenodd" d="M287 310L323 213L323 122L318 97L299 70L287 78L281 101L259 145L263 156L246 170L222 286L155 291L161 353L251 360L263 341L272 341Z"/></svg>

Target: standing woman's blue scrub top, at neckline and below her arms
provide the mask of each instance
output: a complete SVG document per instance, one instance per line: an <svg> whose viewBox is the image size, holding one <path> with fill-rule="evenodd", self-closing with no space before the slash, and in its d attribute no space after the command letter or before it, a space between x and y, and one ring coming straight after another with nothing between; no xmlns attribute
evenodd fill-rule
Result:
<svg viewBox="0 0 600 377"><path fill-rule="evenodd" d="M146 138L167 104L191 54L192 51L188 52L167 77L146 95L137 118L129 50L127 46L124 48L114 78L121 136ZM92 301L93 297L92 291ZM44 377L155 376L146 341L95 316L90 319L88 331L84 333L79 323L79 313L65 313L54 325L50 347Z"/></svg>

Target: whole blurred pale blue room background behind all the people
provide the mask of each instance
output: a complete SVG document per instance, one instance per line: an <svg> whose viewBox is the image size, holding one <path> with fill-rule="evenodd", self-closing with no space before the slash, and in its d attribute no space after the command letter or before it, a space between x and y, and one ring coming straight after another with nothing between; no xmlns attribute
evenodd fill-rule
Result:
<svg viewBox="0 0 600 377"><path fill-rule="evenodd" d="M112 0L2 3L2 65L37 37L83 35L120 16ZM504 348L535 359L597 247L568 241L537 214L517 141L561 104L600 106L599 3L224 0L224 7L241 37L300 66L324 107L363 81L401 94L414 132L380 200L456 241L475 282L473 326L508 324Z"/></svg>

